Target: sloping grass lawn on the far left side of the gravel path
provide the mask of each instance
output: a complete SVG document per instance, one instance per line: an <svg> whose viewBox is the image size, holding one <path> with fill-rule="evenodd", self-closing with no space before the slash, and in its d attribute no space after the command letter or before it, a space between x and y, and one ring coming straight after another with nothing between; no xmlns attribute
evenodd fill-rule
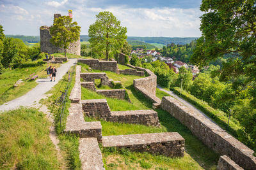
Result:
<svg viewBox="0 0 256 170"><path fill-rule="evenodd" d="M51 65L56 67L60 66L60 64ZM47 78L47 67L49 67L49 64L43 64L42 66L36 67L18 67L0 74L0 105L17 97L23 96L29 90L36 87L37 83L35 81L25 81L26 78L28 78L32 73L37 74L39 78ZM19 79L22 79L24 83L21 83L19 87L14 87L15 82Z"/></svg>

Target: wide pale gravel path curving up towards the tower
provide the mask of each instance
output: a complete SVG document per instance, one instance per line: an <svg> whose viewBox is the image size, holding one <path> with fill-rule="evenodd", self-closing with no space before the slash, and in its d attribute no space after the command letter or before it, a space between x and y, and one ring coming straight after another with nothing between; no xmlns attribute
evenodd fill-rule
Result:
<svg viewBox="0 0 256 170"><path fill-rule="evenodd" d="M24 96L4 103L0 106L0 111L13 110L15 108L19 108L19 106L33 106L33 104L37 104L40 99L46 97L45 92L54 87L54 85L56 85L67 73L68 69L71 66L74 66L76 61L77 59L68 59L68 62L61 64L61 66L57 68L56 81L50 81L50 78L39 78L36 80L38 85L36 85L34 89L30 90Z"/></svg>

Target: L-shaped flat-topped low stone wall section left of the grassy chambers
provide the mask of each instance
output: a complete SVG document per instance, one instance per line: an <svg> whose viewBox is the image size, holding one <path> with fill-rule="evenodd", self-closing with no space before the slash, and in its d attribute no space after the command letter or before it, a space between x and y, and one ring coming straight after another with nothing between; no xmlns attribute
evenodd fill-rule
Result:
<svg viewBox="0 0 256 170"><path fill-rule="evenodd" d="M100 122L85 122L83 116L82 104L71 103L68 108L66 129L64 132L78 134L80 138L97 138L102 139Z"/></svg>

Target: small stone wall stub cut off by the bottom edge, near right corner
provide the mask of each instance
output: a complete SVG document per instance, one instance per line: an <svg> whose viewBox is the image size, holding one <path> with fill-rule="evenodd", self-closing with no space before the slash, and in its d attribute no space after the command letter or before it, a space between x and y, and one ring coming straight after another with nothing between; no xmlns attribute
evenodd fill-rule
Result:
<svg viewBox="0 0 256 170"><path fill-rule="evenodd" d="M227 169L228 170L243 170L242 167L238 166L236 164L236 162L231 160L226 155L223 155L223 156L220 157L217 169L218 170L227 170Z"/></svg>

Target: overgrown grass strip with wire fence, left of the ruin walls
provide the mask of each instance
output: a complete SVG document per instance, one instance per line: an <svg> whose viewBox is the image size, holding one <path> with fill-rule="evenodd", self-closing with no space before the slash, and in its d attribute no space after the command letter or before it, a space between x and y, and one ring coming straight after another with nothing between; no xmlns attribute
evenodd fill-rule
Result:
<svg viewBox="0 0 256 170"><path fill-rule="evenodd" d="M70 68L70 71L73 70L74 67ZM75 69L76 70L76 69ZM70 84L70 88L68 90L68 94L74 87L75 83L75 74L72 76L72 81ZM65 129L66 125L66 120L68 116L68 108L70 107L70 100L68 99L67 96L67 102L65 106L65 111L63 118L61 119L61 125L60 125L60 107L56 106L54 104L54 101L61 95L60 91L64 91L65 87L67 86L68 83L68 74L65 74L63 76L62 80L59 81L47 94L51 94L50 97L47 99L42 99L41 103L46 104L51 110L51 113L54 114L54 119L55 119L55 128L56 132L58 134L58 138L60 139L60 148L61 151L64 153L63 155L65 156L65 160L67 161L67 164L70 169L80 169L81 167L81 161L79 160L79 138L76 135L69 135L69 134L63 134L60 129Z"/></svg>

